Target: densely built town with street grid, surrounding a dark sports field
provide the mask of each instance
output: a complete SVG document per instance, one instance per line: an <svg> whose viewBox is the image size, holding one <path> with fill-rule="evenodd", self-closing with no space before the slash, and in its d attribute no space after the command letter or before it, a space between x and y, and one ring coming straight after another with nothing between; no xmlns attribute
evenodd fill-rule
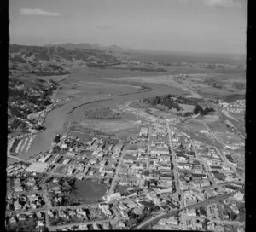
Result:
<svg viewBox="0 0 256 232"><path fill-rule="evenodd" d="M49 151L9 165L8 228L140 229L169 214L152 228L242 228L234 218L244 202L244 180L230 156L163 120L140 123L130 142L55 135ZM107 192L99 203L74 203L68 193L76 179L104 183Z"/></svg>

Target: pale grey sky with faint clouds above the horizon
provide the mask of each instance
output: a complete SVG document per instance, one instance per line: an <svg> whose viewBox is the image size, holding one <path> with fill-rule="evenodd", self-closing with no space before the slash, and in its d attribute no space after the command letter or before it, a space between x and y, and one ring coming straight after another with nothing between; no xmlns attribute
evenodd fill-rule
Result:
<svg viewBox="0 0 256 232"><path fill-rule="evenodd" d="M247 0L9 0L10 44L246 54Z"/></svg>

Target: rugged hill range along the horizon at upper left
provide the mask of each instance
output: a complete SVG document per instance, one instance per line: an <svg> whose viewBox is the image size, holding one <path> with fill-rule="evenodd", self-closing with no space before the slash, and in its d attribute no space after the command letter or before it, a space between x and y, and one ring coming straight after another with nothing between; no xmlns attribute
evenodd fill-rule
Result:
<svg viewBox="0 0 256 232"><path fill-rule="evenodd" d="M98 49L96 49L98 48ZM108 61L116 62L124 57L121 48L109 46L103 48L99 44L60 44L47 46L25 46L10 44L9 61L18 63L38 61Z"/></svg>

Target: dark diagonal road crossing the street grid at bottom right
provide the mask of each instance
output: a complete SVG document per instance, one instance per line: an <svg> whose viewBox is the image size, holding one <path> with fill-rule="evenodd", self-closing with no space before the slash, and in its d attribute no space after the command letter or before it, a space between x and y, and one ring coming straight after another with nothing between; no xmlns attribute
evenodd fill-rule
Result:
<svg viewBox="0 0 256 232"><path fill-rule="evenodd" d="M160 215L158 217L155 217L155 218L150 218L149 220L147 221L144 221L143 223L139 224L136 228L134 229L147 229L148 226L153 226L154 224L156 224L160 219L162 218L165 218L165 217L172 217L175 213L179 212L179 211L183 211L185 209L196 209L196 208L199 208L201 206L207 206L207 205L211 205L212 203L214 202L218 202L218 200L224 200L226 198L228 198L230 195L232 194L235 194L236 192L233 192L233 193L230 193L230 194L223 194L223 195L218 195L216 197L213 197L211 199L208 199L208 200L204 200L204 201L201 201L199 203L196 203L196 204L193 204L193 205L190 205L190 206L185 206L183 208L180 208L178 210L174 210L172 212L168 212L164 215Z"/></svg>

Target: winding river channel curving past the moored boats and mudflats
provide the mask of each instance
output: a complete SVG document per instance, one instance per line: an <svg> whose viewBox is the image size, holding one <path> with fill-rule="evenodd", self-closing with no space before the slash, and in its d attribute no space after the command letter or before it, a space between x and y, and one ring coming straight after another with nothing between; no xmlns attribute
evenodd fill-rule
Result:
<svg viewBox="0 0 256 232"><path fill-rule="evenodd" d="M73 76L71 76L73 78ZM74 77L75 78L75 77ZM117 84L129 84L129 82L116 82ZM137 83L141 85L142 83ZM119 102L136 101L150 96L160 96L169 93L184 94L183 90L172 88L161 84L143 84L151 88L151 91L135 92L129 95L108 97L90 97L89 99L78 101L70 100L61 107L57 107L50 111L44 121L45 130L38 133L32 142L32 146L26 154L20 155L23 159L30 159L32 154L37 154L41 151L49 150L53 137L57 133L65 133L65 124L68 121L80 121L83 119L83 112L86 109L100 107L115 107ZM101 101L102 100L102 101ZM90 102L90 103L88 103Z"/></svg>

